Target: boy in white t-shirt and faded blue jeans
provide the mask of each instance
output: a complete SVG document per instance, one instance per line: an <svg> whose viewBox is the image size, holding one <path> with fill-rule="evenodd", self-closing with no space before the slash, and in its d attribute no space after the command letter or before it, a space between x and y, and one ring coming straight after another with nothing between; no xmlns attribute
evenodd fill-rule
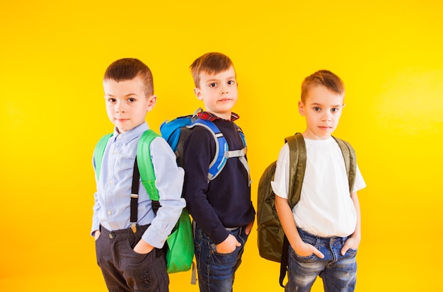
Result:
<svg viewBox="0 0 443 292"><path fill-rule="evenodd" d="M288 204L289 146L280 151L271 182L275 208L289 240L288 283L284 291L311 291L317 276L325 291L354 291L355 255L361 239L357 191L366 187L357 167L350 194L345 160L331 134L344 104L343 81L321 70L301 84L299 113L306 118L306 170L300 201Z"/></svg>

